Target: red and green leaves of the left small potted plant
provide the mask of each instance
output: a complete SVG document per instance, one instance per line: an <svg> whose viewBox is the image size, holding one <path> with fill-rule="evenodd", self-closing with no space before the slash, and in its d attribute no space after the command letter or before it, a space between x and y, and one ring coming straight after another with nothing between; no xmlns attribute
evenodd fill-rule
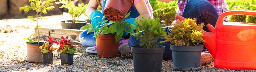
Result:
<svg viewBox="0 0 256 72"><path fill-rule="evenodd" d="M44 44L39 47L41 49L41 53L45 54L57 49L56 47L52 47L54 43L57 45L59 44L58 41L54 41L53 37L49 36L46 41L48 42L44 42Z"/></svg>

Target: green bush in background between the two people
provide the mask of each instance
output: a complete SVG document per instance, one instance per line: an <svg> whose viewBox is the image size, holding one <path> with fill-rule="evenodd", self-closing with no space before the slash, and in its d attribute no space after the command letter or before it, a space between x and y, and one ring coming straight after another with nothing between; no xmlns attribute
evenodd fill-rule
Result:
<svg viewBox="0 0 256 72"><path fill-rule="evenodd" d="M175 18L176 14L177 14L176 8L177 8L177 6L156 9L156 10L154 10L155 14L153 14L153 16L155 18L159 18L160 19L159 22L161 22L161 24L169 25L174 20L176 20L176 18Z"/></svg>

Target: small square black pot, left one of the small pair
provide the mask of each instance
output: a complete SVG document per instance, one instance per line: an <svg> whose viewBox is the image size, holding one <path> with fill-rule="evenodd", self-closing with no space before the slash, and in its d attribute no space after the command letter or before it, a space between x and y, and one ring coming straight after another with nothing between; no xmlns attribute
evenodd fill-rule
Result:
<svg viewBox="0 0 256 72"><path fill-rule="evenodd" d="M41 53L42 54L42 53ZM45 53L43 55L43 64L52 64L52 55L53 53Z"/></svg>

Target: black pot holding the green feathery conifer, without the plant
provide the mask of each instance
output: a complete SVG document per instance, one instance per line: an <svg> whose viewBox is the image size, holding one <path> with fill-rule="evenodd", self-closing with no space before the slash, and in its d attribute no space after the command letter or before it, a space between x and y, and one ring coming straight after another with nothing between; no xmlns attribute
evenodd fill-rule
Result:
<svg viewBox="0 0 256 72"><path fill-rule="evenodd" d="M165 46L159 48L142 48L139 45L132 45L133 65L135 72L161 72L162 57Z"/></svg>

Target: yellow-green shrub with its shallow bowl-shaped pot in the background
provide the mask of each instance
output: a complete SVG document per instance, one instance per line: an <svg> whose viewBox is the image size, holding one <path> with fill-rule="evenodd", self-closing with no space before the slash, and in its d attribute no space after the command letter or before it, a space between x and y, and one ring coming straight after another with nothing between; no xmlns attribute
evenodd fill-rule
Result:
<svg viewBox="0 0 256 72"><path fill-rule="evenodd" d="M55 2L55 4L62 4L59 8L67 8L68 13L72 17L72 21L61 21L62 28L80 29L86 25L87 21L80 21L77 20L77 18L85 12L87 4L81 3L80 6L75 6L71 0L59 0L58 2Z"/></svg>

